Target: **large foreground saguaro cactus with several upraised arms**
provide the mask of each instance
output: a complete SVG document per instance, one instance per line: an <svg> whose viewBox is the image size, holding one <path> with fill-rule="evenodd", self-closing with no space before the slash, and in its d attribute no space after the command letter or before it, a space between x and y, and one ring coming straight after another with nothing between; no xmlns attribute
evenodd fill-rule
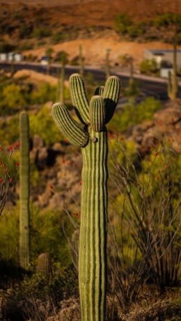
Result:
<svg viewBox="0 0 181 321"><path fill-rule="evenodd" d="M72 102L82 125L63 104L54 104L56 125L83 155L81 227L79 235L79 295L81 321L104 321L107 292L107 128L120 95L118 77L109 77L105 88L88 102L81 75L70 77Z"/></svg>

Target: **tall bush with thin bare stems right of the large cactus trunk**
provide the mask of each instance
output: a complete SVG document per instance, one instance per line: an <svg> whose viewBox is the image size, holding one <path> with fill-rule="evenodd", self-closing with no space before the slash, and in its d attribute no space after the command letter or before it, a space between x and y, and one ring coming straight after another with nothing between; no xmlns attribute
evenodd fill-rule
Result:
<svg viewBox="0 0 181 321"><path fill-rule="evenodd" d="M122 160L115 165L113 182L120 216L129 222L134 242L150 268L150 279L161 289L178 285L180 279L180 155L168 143L161 143L136 162L127 156L124 144L118 142ZM138 155L138 157L140 157ZM116 155L113 157L116 159ZM140 159L141 160L141 159ZM138 161L137 161L138 162ZM148 255L148 245L151 251Z"/></svg>

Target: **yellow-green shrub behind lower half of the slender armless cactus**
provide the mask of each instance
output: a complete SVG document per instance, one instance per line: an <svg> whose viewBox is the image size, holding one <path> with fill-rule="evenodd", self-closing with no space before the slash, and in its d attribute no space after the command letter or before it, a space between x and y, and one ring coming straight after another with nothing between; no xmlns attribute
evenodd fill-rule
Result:
<svg viewBox="0 0 181 321"><path fill-rule="evenodd" d="M46 182L45 182L46 185ZM72 226L63 212L40 210L31 205L31 262L35 263L40 253L49 253L52 261L67 267L71 263L70 249L63 234L72 234ZM18 263L19 204L4 209L0 219L0 257Z"/></svg>

